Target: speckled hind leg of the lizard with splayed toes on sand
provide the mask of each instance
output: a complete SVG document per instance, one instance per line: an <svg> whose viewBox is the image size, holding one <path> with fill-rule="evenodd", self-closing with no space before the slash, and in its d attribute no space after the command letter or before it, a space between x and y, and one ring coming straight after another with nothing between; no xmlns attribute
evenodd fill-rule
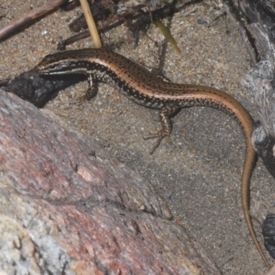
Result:
<svg viewBox="0 0 275 275"><path fill-rule="evenodd" d="M162 109L159 111L160 121L162 123L162 129L156 129L155 132L150 132L147 137L144 137L144 140L148 140L151 138L157 138L157 142L155 146L153 146L151 154L154 153L155 149L159 146L160 142L164 139L164 137L169 137L170 140L170 133L172 131L172 120L170 116L173 115L176 111L179 110L179 106L175 103L169 103L164 105ZM171 140L170 140L171 142Z"/></svg>

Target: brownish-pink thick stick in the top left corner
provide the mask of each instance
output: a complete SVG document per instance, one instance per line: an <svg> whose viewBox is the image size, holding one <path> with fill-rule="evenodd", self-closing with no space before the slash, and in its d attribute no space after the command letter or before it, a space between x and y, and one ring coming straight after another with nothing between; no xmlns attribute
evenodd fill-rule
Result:
<svg viewBox="0 0 275 275"><path fill-rule="evenodd" d="M5 26L0 30L0 40L4 39L6 36L14 32L14 30L17 30L22 25L34 21L34 19L41 17L41 15L50 12L55 8L58 8L60 5L67 3L67 1L69 0L54 0L50 3L43 5L41 8L37 8L36 10L28 13L27 15L25 15L25 17L10 23L9 25Z"/></svg>

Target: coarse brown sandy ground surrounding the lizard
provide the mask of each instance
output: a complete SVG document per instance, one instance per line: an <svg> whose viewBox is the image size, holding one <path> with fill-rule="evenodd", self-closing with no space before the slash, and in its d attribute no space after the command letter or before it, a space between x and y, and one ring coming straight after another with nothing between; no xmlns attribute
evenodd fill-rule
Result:
<svg viewBox="0 0 275 275"><path fill-rule="evenodd" d="M243 41L219 5L206 1L189 5L175 15L172 32L181 54L168 47L166 76L175 83L194 83L227 91L257 120L251 95L240 86L250 68ZM1 3L0 28L45 1ZM56 52L59 41L71 36L67 24L81 10L52 12L0 43L0 78L17 76L39 63L45 54ZM198 19L207 23L199 24ZM162 35L151 25L148 36L162 43ZM129 30L122 26L104 34L105 45L132 58L148 69L157 65L157 43L141 34L134 47ZM92 47L90 39L68 49ZM184 225L212 255L223 274L265 274L266 267L248 232L241 209L241 170L245 140L239 124L215 109L192 107L173 118L172 144L166 140L153 155L155 140L144 141L159 127L158 111L140 107L108 85L98 96L78 107L74 100L87 89L81 83L61 91L45 108L67 113L65 126L83 131L98 140L120 162L142 173L166 198L175 219ZM251 190L271 207L275 198L274 179L258 161ZM261 245L261 228L254 223Z"/></svg>

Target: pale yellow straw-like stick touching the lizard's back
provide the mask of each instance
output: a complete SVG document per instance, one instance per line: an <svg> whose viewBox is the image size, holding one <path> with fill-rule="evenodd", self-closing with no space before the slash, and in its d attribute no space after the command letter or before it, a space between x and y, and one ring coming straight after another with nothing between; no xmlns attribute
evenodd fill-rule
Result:
<svg viewBox="0 0 275 275"><path fill-rule="evenodd" d="M94 21L93 15L91 14L91 9L89 7L87 0L80 0L80 4L83 9L85 19L87 21L87 25L91 34L91 39L93 39L94 41L94 47L102 47L100 36L98 34L98 29L96 28L96 23Z"/></svg>

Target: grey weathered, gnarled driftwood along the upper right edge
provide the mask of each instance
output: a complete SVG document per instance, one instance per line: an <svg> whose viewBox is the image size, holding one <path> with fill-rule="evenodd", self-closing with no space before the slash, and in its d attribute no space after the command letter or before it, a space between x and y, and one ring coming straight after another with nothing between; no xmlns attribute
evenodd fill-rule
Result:
<svg viewBox="0 0 275 275"><path fill-rule="evenodd" d="M261 61L242 81L255 98L259 120L252 133L252 143L265 166L275 177L275 87L274 87L274 5L269 1L241 0L241 8L250 21L248 30L258 43Z"/></svg>

